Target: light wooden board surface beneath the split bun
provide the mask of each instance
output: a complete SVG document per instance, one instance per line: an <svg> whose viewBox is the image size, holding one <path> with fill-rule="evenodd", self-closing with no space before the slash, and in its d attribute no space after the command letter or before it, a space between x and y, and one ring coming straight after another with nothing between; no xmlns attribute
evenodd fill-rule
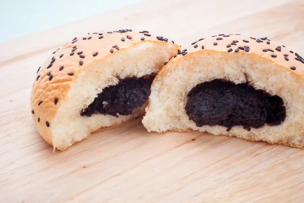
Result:
<svg viewBox="0 0 304 203"><path fill-rule="evenodd" d="M182 47L243 33L303 55L304 1L149 0L2 43L0 202L304 201L303 150L197 131L148 133L140 118L53 153L30 117L37 67L77 35L117 28L150 30Z"/></svg>

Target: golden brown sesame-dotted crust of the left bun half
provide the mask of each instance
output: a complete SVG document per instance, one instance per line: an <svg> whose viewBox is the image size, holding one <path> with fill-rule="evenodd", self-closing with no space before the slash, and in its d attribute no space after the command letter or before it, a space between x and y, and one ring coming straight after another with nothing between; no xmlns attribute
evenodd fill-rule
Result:
<svg viewBox="0 0 304 203"><path fill-rule="evenodd" d="M39 67L30 96L32 119L41 136L52 145L50 126L75 76L94 61L145 42L174 44L147 31L104 31L74 38L53 52Z"/></svg>

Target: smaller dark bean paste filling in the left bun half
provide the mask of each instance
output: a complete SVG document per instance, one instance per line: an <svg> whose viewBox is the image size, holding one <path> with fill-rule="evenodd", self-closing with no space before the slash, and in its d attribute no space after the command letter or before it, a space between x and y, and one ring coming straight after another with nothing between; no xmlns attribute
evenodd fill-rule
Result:
<svg viewBox="0 0 304 203"><path fill-rule="evenodd" d="M141 107L148 99L154 77L128 77L120 79L117 85L105 87L93 103L81 111L81 116L104 114L118 117L117 114L132 114L135 108Z"/></svg>

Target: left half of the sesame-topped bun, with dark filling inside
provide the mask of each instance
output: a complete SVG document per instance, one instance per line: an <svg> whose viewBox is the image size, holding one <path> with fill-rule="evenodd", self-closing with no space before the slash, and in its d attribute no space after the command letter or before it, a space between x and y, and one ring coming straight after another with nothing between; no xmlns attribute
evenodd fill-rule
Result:
<svg viewBox="0 0 304 203"><path fill-rule="evenodd" d="M144 114L149 86L178 45L148 31L123 29L74 38L36 73L31 115L58 150L102 127Z"/></svg>

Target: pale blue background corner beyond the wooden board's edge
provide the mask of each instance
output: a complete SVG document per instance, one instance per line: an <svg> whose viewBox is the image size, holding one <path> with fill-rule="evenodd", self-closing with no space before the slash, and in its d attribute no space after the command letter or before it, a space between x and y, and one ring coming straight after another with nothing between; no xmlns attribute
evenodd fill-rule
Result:
<svg viewBox="0 0 304 203"><path fill-rule="evenodd" d="M0 0L0 42L144 0Z"/></svg>

